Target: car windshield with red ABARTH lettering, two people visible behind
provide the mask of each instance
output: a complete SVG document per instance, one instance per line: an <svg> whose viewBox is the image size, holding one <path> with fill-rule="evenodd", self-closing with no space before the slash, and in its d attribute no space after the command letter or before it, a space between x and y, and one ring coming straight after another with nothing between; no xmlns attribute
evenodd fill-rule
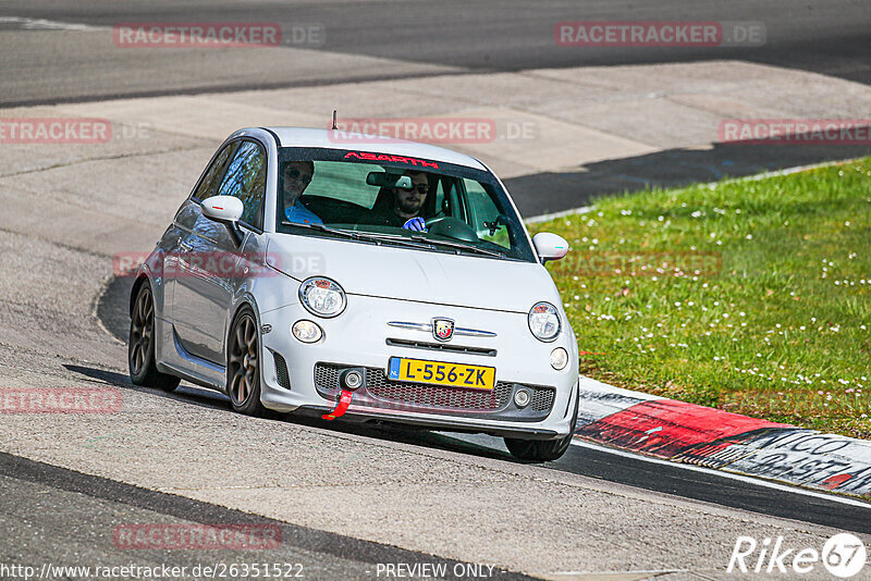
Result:
<svg viewBox="0 0 871 581"><path fill-rule="evenodd" d="M441 161L320 148L279 153L277 232L533 261L489 172Z"/></svg>

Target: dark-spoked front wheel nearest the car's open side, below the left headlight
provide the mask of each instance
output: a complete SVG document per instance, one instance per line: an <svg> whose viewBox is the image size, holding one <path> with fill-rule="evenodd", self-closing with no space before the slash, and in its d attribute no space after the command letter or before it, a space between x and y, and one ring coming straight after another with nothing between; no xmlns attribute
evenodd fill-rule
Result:
<svg viewBox="0 0 871 581"><path fill-rule="evenodd" d="M233 320L226 346L226 395L233 409L266 416L260 403L260 336L254 311L245 307Z"/></svg>

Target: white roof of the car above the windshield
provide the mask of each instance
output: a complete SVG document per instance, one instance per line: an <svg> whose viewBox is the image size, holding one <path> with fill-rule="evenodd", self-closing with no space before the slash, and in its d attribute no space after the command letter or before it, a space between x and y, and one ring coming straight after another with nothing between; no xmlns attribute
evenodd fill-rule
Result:
<svg viewBox="0 0 871 581"><path fill-rule="evenodd" d="M280 147L323 147L329 149L353 149L391 156L414 156L433 161L455 163L476 170L487 168L477 159L443 147L406 141L393 137L378 137L361 133L333 132L311 127L262 127L278 136Z"/></svg>

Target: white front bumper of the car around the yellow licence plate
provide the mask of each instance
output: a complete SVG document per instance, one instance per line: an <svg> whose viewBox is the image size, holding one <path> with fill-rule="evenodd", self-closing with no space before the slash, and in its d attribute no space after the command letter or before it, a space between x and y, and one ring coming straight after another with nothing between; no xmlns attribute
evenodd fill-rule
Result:
<svg viewBox="0 0 871 581"><path fill-rule="evenodd" d="M345 311L335 319L318 319L300 305L260 314L262 335L261 400L278 411L310 413L332 410L339 398L338 372L358 368L366 384L355 392L345 415L348 420L383 421L430 429L484 432L529 438L554 438L569 433L577 397L577 347L566 327L553 343L529 333L526 314L443 307L351 295ZM432 335L396 329L389 321L428 322L433 317L454 319L457 326L490 331L495 337L455 336L439 349ZM317 344L296 341L290 330L308 319L324 331ZM431 345L432 347L427 347ZM562 371L549 364L557 346L569 353ZM459 347L467 347L464 353ZM387 379L390 357L409 357L496 368L492 392L407 384ZM514 404L514 393L526 388L529 406Z"/></svg>

